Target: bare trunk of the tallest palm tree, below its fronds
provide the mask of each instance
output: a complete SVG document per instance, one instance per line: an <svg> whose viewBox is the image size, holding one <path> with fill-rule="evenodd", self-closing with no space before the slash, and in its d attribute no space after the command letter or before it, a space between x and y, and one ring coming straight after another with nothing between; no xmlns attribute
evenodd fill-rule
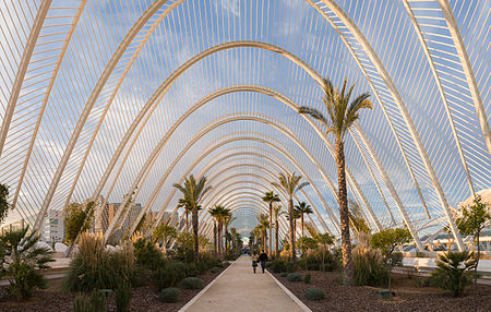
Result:
<svg viewBox="0 0 491 312"><path fill-rule="evenodd" d="M348 196L346 193L345 151L344 143L336 141L337 184L339 188L339 215L342 227L342 251L345 286L352 285L351 239L349 237Z"/></svg>

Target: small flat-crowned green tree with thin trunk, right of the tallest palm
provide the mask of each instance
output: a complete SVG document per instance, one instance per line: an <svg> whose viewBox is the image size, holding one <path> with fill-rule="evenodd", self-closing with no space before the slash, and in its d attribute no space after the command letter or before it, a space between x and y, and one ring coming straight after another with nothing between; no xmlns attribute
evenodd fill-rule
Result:
<svg viewBox="0 0 491 312"><path fill-rule="evenodd" d="M391 269L392 269L392 254L397 245L409 242L411 233L406 228L385 229L374 233L370 239L370 244L373 248L380 249L385 256L388 265L388 292L391 292Z"/></svg>

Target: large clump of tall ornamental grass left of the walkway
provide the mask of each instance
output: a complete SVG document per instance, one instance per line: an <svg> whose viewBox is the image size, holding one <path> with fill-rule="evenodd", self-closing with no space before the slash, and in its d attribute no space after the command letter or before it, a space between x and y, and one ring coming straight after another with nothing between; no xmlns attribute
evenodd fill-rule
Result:
<svg viewBox="0 0 491 312"><path fill-rule="evenodd" d="M116 289L135 278L136 265L132 244L123 244L118 251L105 249L101 237L83 233L79 250L70 263L63 280L69 291Z"/></svg>

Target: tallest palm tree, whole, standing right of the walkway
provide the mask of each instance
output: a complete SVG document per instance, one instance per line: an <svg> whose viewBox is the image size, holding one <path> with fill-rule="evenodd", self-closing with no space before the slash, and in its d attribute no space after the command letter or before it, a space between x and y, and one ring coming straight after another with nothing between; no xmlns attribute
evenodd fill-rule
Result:
<svg viewBox="0 0 491 312"><path fill-rule="evenodd" d="M370 94L363 93L350 100L355 85L347 89L348 80L345 79L343 88L339 91L333 86L330 80L324 80L323 101L326 107L328 119L315 108L302 106L300 113L309 115L319 120L326 128L326 134L333 133L336 140L336 164L337 164L337 184L339 188L339 215L342 226L342 249L344 266L344 284L352 285L352 265L351 265L351 240L349 238L349 209L348 194L346 191L345 172L345 147L344 140L348 129L359 119L361 109L371 109L372 103L368 99Z"/></svg>

